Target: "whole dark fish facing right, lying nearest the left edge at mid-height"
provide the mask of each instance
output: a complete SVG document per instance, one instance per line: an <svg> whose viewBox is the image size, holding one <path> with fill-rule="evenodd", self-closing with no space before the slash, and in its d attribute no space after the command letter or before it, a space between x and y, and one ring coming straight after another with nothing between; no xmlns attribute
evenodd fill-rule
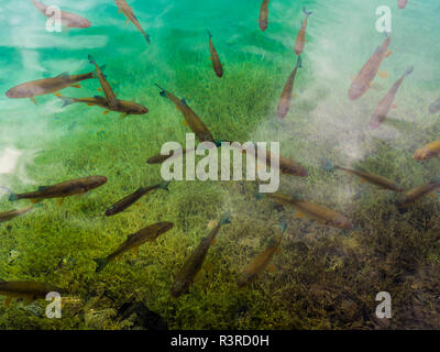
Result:
<svg viewBox="0 0 440 352"><path fill-rule="evenodd" d="M30 199L32 202L35 204L41 201L42 199L61 198L59 205L62 205L65 197L84 195L89 190L102 186L106 183L106 176L88 176L66 180L64 183L53 186L41 186L37 190L26 194L11 194L9 200L15 201L19 199Z"/></svg>

